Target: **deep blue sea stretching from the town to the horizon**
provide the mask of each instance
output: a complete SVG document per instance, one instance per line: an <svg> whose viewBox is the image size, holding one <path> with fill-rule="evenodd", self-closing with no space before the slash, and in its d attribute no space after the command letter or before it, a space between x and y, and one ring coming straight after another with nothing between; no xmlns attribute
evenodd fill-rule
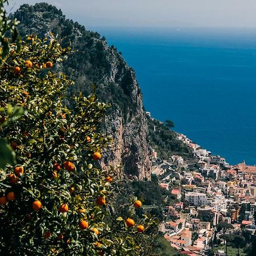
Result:
<svg viewBox="0 0 256 256"><path fill-rule="evenodd" d="M256 164L256 29L92 30L135 69L152 117L230 164Z"/></svg>

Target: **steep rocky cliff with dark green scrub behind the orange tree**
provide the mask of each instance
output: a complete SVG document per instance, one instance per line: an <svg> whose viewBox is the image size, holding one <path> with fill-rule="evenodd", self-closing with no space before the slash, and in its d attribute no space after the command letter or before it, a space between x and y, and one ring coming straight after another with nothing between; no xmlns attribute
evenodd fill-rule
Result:
<svg viewBox="0 0 256 256"><path fill-rule="evenodd" d="M104 153L104 163L121 164L124 173L137 179L149 179L151 148L147 142L147 118L142 94L135 72L105 38L85 30L77 22L68 20L60 10L46 3L23 5L14 14L20 20L22 36L49 36L49 31L60 35L63 44L72 42L76 51L57 70L66 73L75 85L69 93L90 93L92 82L100 100L112 104L102 127L112 134L112 150Z"/></svg>

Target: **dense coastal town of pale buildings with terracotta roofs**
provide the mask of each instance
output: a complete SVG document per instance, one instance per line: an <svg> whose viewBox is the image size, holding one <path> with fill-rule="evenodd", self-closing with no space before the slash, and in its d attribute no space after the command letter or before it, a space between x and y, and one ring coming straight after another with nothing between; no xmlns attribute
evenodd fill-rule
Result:
<svg viewBox="0 0 256 256"><path fill-rule="evenodd" d="M256 230L256 166L245 161L232 166L184 134L177 139L191 148L194 158L159 160L153 152L152 173L173 199L163 210L159 231L181 254L228 255L226 234L253 235Z"/></svg>

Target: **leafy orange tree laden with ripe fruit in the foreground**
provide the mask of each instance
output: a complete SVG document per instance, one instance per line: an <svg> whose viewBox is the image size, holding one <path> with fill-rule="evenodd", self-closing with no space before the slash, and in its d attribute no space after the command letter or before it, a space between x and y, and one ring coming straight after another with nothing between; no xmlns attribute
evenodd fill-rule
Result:
<svg viewBox="0 0 256 256"><path fill-rule="evenodd" d="M143 254L141 241L153 221L135 217L141 207L135 199L124 206L129 218L119 216L111 204L114 168L101 170L99 164L112 142L98 130L108 106L94 94L67 98L72 81L51 72L68 51L53 36L31 35L19 48L10 44L0 65L0 116L8 122L0 136L17 162L7 164L0 180L0 252ZM19 119L8 120L10 104L24 109Z"/></svg>

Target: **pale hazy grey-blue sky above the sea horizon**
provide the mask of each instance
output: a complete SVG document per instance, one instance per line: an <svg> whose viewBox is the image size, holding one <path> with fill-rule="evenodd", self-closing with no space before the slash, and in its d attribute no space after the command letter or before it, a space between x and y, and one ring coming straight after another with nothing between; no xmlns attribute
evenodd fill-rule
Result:
<svg viewBox="0 0 256 256"><path fill-rule="evenodd" d="M9 0L13 10L36 0ZM256 27L256 0L45 0L88 27Z"/></svg>

